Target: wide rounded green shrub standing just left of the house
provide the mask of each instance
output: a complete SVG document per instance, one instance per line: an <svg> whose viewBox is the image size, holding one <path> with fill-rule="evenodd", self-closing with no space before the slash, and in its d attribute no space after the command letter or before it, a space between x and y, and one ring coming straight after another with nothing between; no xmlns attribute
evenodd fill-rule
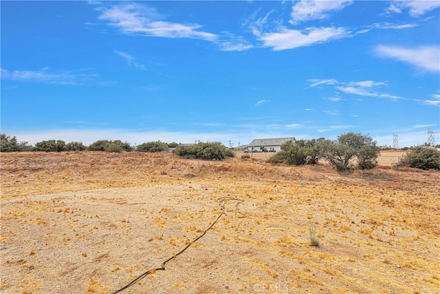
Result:
<svg viewBox="0 0 440 294"><path fill-rule="evenodd" d="M223 160L228 156L234 156L232 151L219 142L200 142L188 147L179 145L174 152L177 156L184 158L198 158L203 160Z"/></svg>

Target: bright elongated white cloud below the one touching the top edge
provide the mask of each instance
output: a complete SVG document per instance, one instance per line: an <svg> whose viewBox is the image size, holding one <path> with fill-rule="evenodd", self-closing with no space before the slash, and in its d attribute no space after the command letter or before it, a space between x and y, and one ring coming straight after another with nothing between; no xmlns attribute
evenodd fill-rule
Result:
<svg viewBox="0 0 440 294"><path fill-rule="evenodd" d="M287 50L316 43L325 43L347 36L344 28L307 28L306 30L289 30L281 28L279 32L264 33L259 36L265 47L274 50Z"/></svg>

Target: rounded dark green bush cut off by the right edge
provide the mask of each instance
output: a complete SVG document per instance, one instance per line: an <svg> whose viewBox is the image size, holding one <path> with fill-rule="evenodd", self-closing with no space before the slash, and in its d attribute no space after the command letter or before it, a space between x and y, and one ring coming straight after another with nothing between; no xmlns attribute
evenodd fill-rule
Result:
<svg viewBox="0 0 440 294"><path fill-rule="evenodd" d="M405 154L395 167L440 170L440 151L434 147L415 147Z"/></svg>

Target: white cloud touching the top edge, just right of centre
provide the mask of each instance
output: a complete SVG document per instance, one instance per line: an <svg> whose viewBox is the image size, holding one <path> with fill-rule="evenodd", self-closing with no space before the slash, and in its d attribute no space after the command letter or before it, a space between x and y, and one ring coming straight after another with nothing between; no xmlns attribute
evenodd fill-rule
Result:
<svg viewBox="0 0 440 294"><path fill-rule="evenodd" d="M292 7L291 23L300 21L310 21L314 19L325 19L329 17L327 12L342 10L351 5L353 1L322 1L322 0L302 0L295 2Z"/></svg>

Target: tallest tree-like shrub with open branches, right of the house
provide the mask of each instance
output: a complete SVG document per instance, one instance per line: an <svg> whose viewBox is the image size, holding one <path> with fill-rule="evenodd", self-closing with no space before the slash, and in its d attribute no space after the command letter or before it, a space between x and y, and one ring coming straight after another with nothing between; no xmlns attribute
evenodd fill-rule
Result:
<svg viewBox="0 0 440 294"><path fill-rule="evenodd" d="M338 140L322 140L320 144L322 156L338 171L347 171L354 167L372 169L377 166L380 149L369 136L347 133L338 136Z"/></svg>

